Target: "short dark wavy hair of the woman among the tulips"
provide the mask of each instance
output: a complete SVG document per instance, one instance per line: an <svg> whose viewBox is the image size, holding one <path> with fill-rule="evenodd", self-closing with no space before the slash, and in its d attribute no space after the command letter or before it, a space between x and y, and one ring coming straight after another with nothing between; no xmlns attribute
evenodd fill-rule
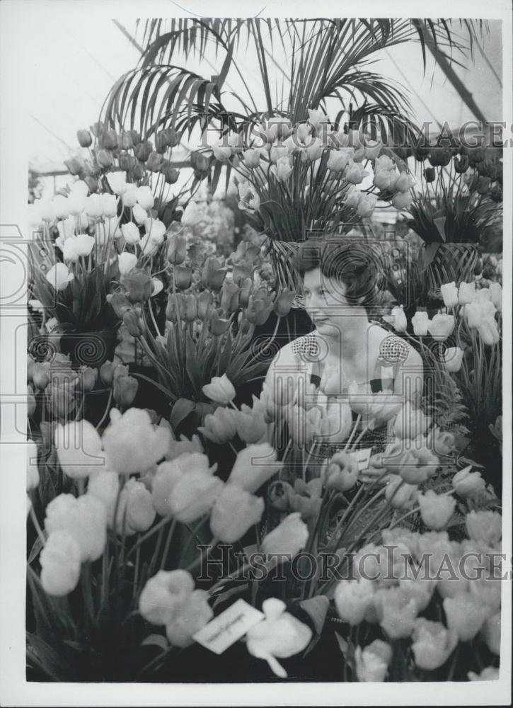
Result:
<svg viewBox="0 0 513 708"><path fill-rule="evenodd" d="M378 273L371 248L340 241L301 242L297 253L299 273L304 276L309 270L320 268L323 275L345 286L348 304L372 307L376 304Z"/></svg>

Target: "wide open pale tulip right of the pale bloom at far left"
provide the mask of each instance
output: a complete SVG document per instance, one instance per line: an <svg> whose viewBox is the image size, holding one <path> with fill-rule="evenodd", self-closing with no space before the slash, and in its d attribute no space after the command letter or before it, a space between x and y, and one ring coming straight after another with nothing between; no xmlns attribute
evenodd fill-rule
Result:
<svg viewBox="0 0 513 708"><path fill-rule="evenodd" d="M166 454L171 433L161 426L154 428L147 411L130 408L121 415L113 409L110 421L102 442L110 467L115 472L146 472Z"/></svg>

